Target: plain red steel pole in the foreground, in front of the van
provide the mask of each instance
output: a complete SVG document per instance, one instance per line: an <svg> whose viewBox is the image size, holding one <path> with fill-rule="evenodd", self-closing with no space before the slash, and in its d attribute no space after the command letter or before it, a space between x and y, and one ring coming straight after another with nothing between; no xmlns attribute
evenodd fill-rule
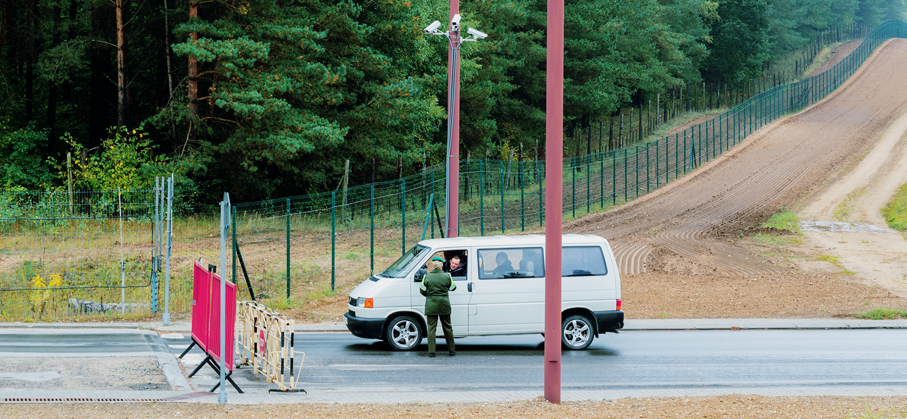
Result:
<svg viewBox="0 0 907 419"><path fill-rule="evenodd" d="M545 83L545 399L561 404L564 0L548 0Z"/></svg>

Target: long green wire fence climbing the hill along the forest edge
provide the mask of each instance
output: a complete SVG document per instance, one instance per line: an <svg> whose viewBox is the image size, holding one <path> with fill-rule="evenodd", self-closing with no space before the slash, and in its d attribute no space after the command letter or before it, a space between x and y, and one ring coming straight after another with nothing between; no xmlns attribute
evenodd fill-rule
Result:
<svg viewBox="0 0 907 419"><path fill-rule="evenodd" d="M907 24L885 22L823 73L757 93L658 140L565 159L564 219L633 200L696 170L767 123L821 100L879 44L905 34ZM461 235L541 229L543 161L466 159L461 165ZM400 180L234 205L233 278L258 297L318 297L356 284L423 235L439 237L444 200L444 166L436 166Z"/></svg>

